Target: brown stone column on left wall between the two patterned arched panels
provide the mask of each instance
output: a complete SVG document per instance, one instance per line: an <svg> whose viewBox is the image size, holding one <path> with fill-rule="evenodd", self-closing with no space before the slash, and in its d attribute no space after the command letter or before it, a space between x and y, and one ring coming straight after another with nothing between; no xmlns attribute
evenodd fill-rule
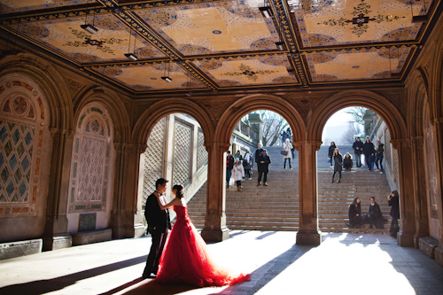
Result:
<svg viewBox="0 0 443 295"><path fill-rule="evenodd" d="M75 131L50 128L50 132L52 157L43 251L67 248L72 245L72 237L67 233L66 211Z"/></svg>

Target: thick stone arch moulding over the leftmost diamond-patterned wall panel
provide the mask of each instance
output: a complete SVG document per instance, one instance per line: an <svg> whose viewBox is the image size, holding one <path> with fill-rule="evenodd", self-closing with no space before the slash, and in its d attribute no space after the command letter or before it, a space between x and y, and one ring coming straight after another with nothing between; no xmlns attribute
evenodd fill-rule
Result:
<svg viewBox="0 0 443 295"><path fill-rule="evenodd" d="M66 129L73 124L73 104L66 82L51 63L33 54L19 53L3 58L0 64L1 77L22 77L44 89L50 128Z"/></svg>

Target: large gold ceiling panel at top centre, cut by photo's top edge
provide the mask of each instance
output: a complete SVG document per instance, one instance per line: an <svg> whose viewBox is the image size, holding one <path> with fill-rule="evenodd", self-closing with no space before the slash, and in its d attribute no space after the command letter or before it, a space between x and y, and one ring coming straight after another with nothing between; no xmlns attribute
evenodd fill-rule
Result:
<svg viewBox="0 0 443 295"><path fill-rule="evenodd" d="M183 56L276 50L279 37L253 1L222 1L137 10Z"/></svg>

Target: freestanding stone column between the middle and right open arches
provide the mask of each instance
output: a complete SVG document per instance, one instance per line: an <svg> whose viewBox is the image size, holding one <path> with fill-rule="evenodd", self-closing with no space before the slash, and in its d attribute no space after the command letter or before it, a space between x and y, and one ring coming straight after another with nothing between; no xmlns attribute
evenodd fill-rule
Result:
<svg viewBox="0 0 443 295"><path fill-rule="evenodd" d="M299 141L299 232L297 245L320 245L317 206L317 151L322 142Z"/></svg>

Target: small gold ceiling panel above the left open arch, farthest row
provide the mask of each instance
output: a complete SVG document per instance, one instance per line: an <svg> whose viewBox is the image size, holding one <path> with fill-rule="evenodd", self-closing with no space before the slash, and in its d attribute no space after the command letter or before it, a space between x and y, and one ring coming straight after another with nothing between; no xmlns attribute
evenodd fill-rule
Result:
<svg viewBox="0 0 443 295"><path fill-rule="evenodd" d="M181 66L171 64L105 66L97 69L103 74L133 91L206 89L205 85L186 73ZM167 82L161 77L169 77Z"/></svg>

